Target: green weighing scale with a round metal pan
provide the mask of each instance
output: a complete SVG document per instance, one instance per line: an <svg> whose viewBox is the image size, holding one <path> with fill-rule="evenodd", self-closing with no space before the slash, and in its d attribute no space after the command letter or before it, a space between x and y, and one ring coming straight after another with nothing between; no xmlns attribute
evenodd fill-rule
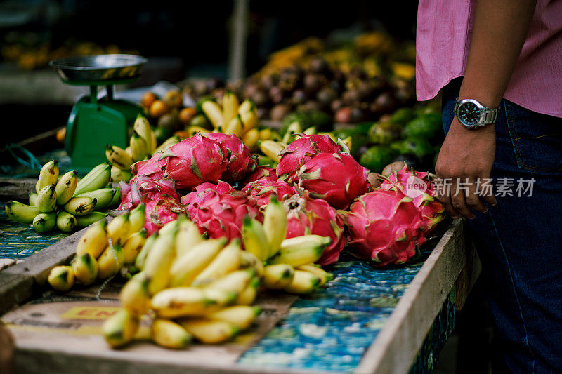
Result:
<svg viewBox="0 0 562 374"><path fill-rule="evenodd" d="M136 55L74 56L49 62L65 84L90 86L90 95L72 107L66 126L65 149L72 157L73 168L88 171L107 161L107 145L129 145L127 128L143 109L133 102L115 99L113 86L136 81L146 62ZM98 86L107 90L100 99Z"/></svg>

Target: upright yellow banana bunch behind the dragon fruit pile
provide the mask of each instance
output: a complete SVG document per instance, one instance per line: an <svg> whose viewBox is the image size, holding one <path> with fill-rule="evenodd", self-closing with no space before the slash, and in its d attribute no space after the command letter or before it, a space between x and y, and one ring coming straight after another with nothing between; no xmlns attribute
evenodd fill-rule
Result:
<svg viewBox="0 0 562 374"><path fill-rule="evenodd" d="M272 137L270 129L265 128L260 131L256 128L258 109L254 102L244 100L239 105L238 98L230 91L226 91L223 95L222 105L207 100L203 102L202 109L215 131L236 135L250 149L258 140L268 140Z"/></svg>

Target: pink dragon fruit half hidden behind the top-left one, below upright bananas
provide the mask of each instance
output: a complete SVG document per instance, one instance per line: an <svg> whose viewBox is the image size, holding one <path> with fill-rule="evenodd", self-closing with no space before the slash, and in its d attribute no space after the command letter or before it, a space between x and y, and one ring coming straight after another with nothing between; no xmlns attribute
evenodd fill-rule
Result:
<svg viewBox="0 0 562 374"><path fill-rule="evenodd" d="M228 152L228 166L221 177L222 180L237 182L256 168L256 157L259 156L251 156L250 149L236 135L207 133L204 136L221 143Z"/></svg>

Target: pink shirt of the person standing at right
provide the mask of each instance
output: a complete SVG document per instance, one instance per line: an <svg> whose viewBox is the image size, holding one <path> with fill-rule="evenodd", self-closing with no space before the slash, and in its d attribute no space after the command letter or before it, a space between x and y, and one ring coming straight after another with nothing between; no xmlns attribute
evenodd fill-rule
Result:
<svg viewBox="0 0 562 374"><path fill-rule="evenodd" d="M416 93L434 98L464 75L474 0L420 0L416 32ZM562 0L537 0L527 39L504 98L562 117Z"/></svg>

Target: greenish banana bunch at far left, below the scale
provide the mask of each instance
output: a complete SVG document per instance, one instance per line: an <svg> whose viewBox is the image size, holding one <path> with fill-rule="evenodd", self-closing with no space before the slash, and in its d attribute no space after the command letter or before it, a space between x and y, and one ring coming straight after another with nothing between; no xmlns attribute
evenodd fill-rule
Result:
<svg viewBox="0 0 562 374"><path fill-rule="evenodd" d="M93 211L94 208L109 208L119 202L119 191L106 187L109 181L107 163L78 180L76 171L59 177L58 161L49 161L41 168L29 205L8 201L6 213L16 222L31 224L37 232L49 232L55 227L71 232L75 227L86 227L105 218L107 214Z"/></svg>

